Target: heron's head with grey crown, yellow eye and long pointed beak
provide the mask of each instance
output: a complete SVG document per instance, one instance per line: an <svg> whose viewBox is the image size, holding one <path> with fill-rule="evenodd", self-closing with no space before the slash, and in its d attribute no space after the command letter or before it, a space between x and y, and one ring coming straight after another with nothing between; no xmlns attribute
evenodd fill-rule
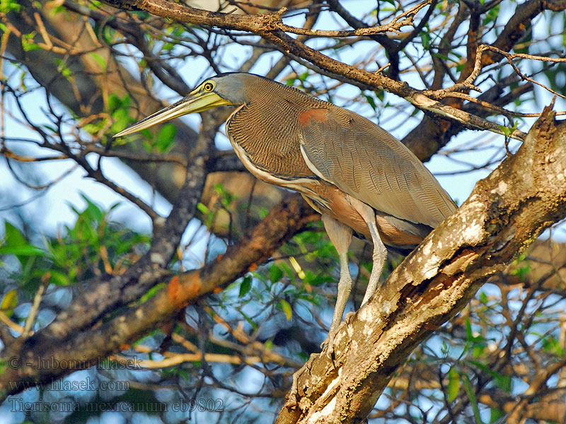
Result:
<svg viewBox="0 0 566 424"><path fill-rule="evenodd" d="M178 118L185 114L202 112L213 107L226 105L243 105L246 102L244 88L249 80L261 78L250 73L221 73L208 78L192 90L185 98L166 107L141 121L129 126L127 129L115 134L115 137L127 136L142 129L149 128L169 119Z"/></svg>

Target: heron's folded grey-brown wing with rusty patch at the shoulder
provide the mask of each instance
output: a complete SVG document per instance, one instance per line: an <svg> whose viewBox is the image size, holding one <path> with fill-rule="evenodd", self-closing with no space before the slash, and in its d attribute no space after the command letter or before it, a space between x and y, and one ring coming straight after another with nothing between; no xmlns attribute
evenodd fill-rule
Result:
<svg viewBox="0 0 566 424"><path fill-rule="evenodd" d="M369 119L329 107L302 112L299 126L311 170L377 211L434 228L456 210L420 160Z"/></svg>

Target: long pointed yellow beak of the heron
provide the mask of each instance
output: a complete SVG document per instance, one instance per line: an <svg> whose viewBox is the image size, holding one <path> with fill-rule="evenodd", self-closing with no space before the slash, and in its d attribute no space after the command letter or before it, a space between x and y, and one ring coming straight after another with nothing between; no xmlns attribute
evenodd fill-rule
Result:
<svg viewBox="0 0 566 424"><path fill-rule="evenodd" d="M203 110L212 109L213 107L226 105L231 105L231 102L224 100L212 91L203 92L202 90L195 90L189 93L185 98L173 103L173 105L141 119L141 121L136 122L132 126L128 126L127 129L115 134L114 137L127 136L128 134L133 134L134 132L149 128L160 122L168 121L169 119L181 117L185 114L202 112Z"/></svg>

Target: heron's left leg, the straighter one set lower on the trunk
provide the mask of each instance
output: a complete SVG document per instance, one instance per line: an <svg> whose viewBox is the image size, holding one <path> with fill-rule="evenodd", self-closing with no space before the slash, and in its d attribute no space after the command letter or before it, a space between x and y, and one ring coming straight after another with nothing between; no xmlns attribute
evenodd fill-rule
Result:
<svg viewBox="0 0 566 424"><path fill-rule="evenodd" d="M331 350L334 343L334 336L342 320L342 314L344 313L346 302L352 290L352 277L350 276L350 266L348 264L348 248L350 247L350 242L352 242L352 228L325 214L323 214L323 224L340 258L338 297L336 299L336 306L334 307L332 324L330 324L330 331L328 332L328 347Z"/></svg>

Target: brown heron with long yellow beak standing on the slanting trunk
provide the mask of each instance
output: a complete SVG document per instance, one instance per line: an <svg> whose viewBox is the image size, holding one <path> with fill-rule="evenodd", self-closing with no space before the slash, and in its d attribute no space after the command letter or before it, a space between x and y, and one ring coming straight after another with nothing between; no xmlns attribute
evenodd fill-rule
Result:
<svg viewBox="0 0 566 424"><path fill-rule="evenodd" d="M385 245L412 248L456 210L417 157L391 134L350 110L250 73L224 73L115 136L212 107L234 105L226 134L236 155L265 182L301 193L340 257L329 348L352 288L352 230L374 243L364 305L377 288ZM385 244L385 245L384 245Z"/></svg>

